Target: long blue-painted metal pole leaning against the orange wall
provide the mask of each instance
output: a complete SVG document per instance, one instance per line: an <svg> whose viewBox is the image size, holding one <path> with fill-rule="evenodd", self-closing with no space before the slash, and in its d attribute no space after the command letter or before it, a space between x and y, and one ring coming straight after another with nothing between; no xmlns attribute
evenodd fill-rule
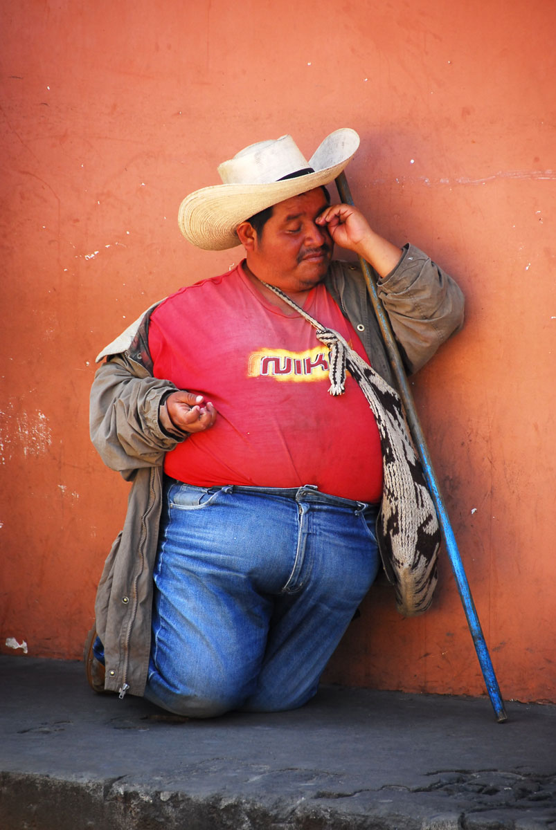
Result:
<svg viewBox="0 0 556 830"><path fill-rule="evenodd" d="M352 194L350 193L345 173L340 173L337 177L336 186L342 202L344 204L352 205ZM444 536L450 564L455 576L455 583L460 593L460 599L465 611L465 617L467 618L467 624L471 632L471 637L473 637L475 651L477 652L477 657L479 658L480 669L485 679L486 689L490 696L490 702L494 708L496 720L498 720L499 723L504 723L504 720L507 720L507 715L504 710L504 702L500 696L498 681L496 680L494 667L490 660L489 650L486 647L485 637L480 627L479 617L475 609L473 597L471 596L469 582L467 581L465 569L460 557L460 551L458 550L458 546L455 542L454 531L452 530L450 519L445 509L444 500L440 495L440 488L432 466L431 455L428 447L426 446L425 435L422 431L419 417L417 416L413 395L411 393L409 383L407 383L406 370L401 362L396 340L394 339L394 334L391 330L390 320L388 320L386 311L384 310L376 291L376 285L372 276L371 267L368 262L362 258L362 256L359 257L359 261L361 262L363 276L367 282L367 290L371 296L371 302L375 310L376 319L378 320L378 325L381 329L382 339L384 340L384 344L386 346L386 352L388 353L391 367L396 376L401 401L406 409L407 422L409 423L411 429L411 436L416 444L417 452L419 452L419 456L421 457L426 483L429 486L432 499L435 502L435 508L440 523L440 530Z"/></svg>

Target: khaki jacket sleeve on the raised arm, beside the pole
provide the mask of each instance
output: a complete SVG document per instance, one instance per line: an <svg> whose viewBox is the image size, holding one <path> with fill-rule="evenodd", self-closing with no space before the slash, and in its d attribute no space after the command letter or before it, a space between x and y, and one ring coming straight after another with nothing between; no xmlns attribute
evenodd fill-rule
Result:
<svg viewBox="0 0 556 830"><path fill-rule="evenodd" d="M406 245L394 271L377 281L377 291L410 374L463 325L459 286L413 245Z"/></svg>

